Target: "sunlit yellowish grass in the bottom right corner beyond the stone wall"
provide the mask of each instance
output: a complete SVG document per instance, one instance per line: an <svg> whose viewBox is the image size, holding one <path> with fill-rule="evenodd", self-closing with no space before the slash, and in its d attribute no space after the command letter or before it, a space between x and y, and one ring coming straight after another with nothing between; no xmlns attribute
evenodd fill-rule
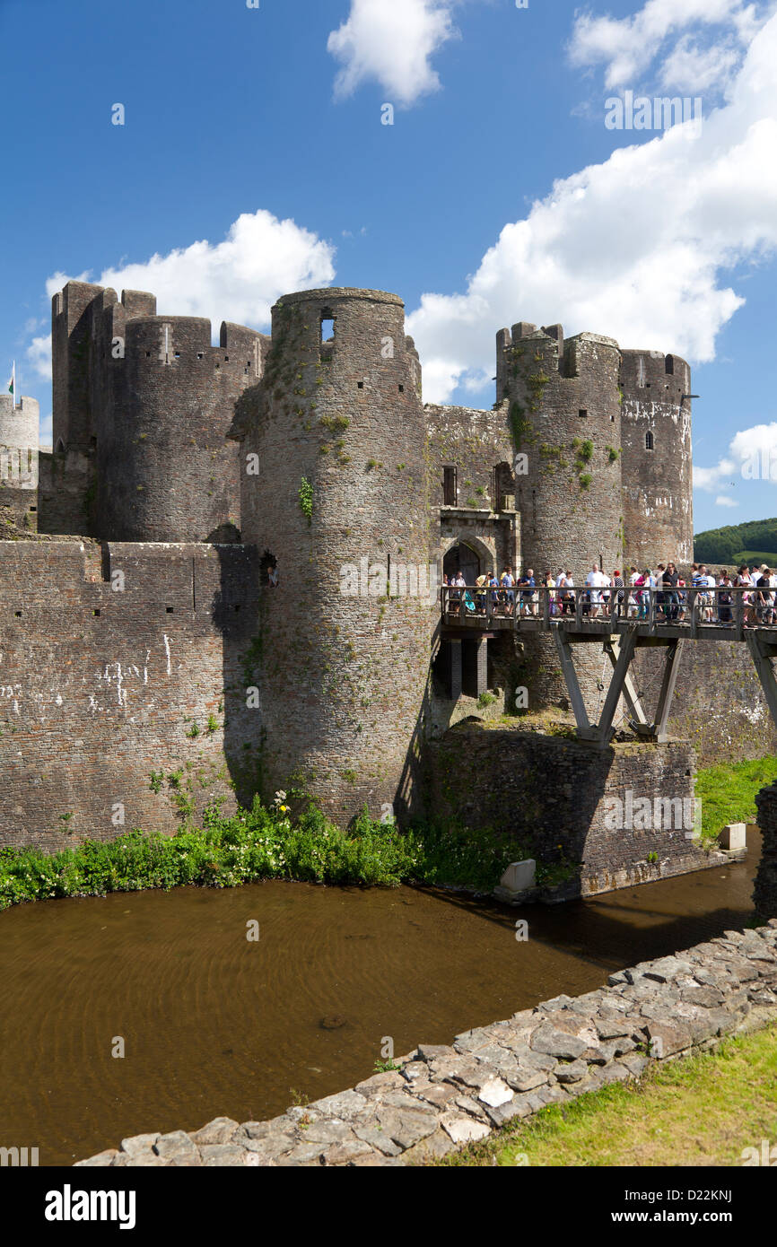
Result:
<svg viewBox="0 0 777 1247"><path fill-rule="evenodd" d="M777 1139L777 1026L551 1105L438 1163L742 1165L762 1139Z"/></svg>

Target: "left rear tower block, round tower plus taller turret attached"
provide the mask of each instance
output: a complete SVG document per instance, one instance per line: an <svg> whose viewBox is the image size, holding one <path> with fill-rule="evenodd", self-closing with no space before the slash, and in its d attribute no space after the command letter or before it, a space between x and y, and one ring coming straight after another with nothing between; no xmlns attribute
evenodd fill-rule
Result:
<svg viewBox="0 0 777 1247"><path fill-rule="evenodd" d="M69 282L52 299L54 451L89 471L79 531L112 541L239 539L234 403L262 374L254 329L156 314L156 298ZM75 495L80 474L67 475ZM77 500L76 500L77 501ZM47 520L60 519L56 506ZM71 522L69 514L62 518Z"/></svg>

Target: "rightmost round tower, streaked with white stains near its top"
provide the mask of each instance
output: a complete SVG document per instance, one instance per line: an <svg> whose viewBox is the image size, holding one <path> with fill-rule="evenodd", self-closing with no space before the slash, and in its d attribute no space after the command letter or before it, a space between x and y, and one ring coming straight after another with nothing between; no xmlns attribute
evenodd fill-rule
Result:
<svg viewBox="0 0 777 1247"><path fill-rule="evenodd" d="M622 350L626 559L640 570L693 557L691 369L678 355Z"/></svg>

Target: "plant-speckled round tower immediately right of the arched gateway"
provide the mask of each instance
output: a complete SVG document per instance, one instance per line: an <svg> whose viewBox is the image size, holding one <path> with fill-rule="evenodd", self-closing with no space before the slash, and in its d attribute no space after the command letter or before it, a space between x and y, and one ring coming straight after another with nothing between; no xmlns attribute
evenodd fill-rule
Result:
<svg viewBox="0 0 777 1247"><path fill-rule="evenodd" d="M500 330L496 360L498 395L508 403L516 450L524 567L536 576L569 569L576 585L595 562L612 572L624 549L617 343L592 333L564 343L561 325L520 323L511 333ZM595 712L602 655L597 646L577 646L575 658ZM553 637L526 636L524 660L530 708L564 703Z"/></svg>

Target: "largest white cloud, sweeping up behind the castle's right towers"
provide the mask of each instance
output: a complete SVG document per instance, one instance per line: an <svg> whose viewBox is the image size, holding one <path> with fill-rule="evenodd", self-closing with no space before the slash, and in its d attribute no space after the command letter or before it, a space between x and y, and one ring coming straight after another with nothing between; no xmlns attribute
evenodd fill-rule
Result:
<svg viewBox="0 0 777 1247"><path fill-rule="evenodd" d="M675 126L556 182L504 227L465 293L424 294L408 332L427 397L444 402L473 373L491 375L494 330L519 319L712 359L743 303L721 274L777 247L775 64L777 16L696 137Z"/></svg>

